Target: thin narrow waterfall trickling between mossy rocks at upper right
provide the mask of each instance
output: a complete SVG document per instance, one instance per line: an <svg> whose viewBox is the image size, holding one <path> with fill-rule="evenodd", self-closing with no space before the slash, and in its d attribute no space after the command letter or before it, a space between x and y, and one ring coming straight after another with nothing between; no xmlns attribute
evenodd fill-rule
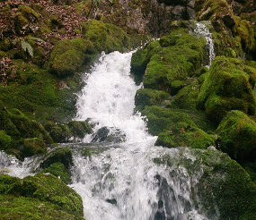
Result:
<svg viewBox="0 0 256 220"><path fill-rule="evenodd" d="M204 24L203 22L197 22L196 27L193 31L198 37L200 37L200 38L203 37L203 38L206 38L206 40L207 40L207 50L208 50L208 54L209 54L209 62L206 67L209 68L216 57L215 51L214 51L214 43L213 43L212 33L209 31L206 24Z"/></svg>

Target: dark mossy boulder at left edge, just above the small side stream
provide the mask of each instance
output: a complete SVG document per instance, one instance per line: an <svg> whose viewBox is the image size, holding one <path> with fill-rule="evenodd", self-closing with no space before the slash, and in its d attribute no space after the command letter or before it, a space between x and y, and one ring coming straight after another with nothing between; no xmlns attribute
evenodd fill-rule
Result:
<svg viewBox="0 0 256 220"><path fill-rule="evenodd" d="M0 101L0 148L29 157L46 151L47 144L53 142L48 131L18 109L7 111Z"/></svg>

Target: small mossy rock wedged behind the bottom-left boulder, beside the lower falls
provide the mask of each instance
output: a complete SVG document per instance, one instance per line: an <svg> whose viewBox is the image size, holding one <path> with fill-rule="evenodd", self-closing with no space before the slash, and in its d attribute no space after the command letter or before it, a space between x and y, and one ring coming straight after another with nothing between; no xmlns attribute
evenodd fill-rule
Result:
<svg viewBox="0 0 256 220"><path fill-rule="evenodd" d="M71 174L66 170L66 167L59 162L49 165L49 167L41 170L40 173L51 173L57 176L57 178L60 178L66 184L71 183Z"/></svg>

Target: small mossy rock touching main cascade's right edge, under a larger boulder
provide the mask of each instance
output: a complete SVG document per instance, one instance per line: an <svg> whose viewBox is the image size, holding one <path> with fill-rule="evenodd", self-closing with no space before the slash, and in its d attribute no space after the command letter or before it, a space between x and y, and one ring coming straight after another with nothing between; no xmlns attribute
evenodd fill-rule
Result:
<svg viewBox="0 0 256 220"><path fill-rule="evenodd" d="M145 106L160 106L170 95L164 91L154 89L138 89L135 96L137 110L141 111Z"/></svg>

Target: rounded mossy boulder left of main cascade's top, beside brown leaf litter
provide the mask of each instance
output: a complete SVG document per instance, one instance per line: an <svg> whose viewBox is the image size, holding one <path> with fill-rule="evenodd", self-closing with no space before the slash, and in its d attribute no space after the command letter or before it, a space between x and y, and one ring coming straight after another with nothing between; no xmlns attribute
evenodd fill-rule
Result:
<svg viewBox="0 0 256 220"><path fill-rule="evenodd" d="M57 42L50 59L49 70L59 77L65 77L80 71L90 60L93 45L84 38L65 39Z"/></svg>

